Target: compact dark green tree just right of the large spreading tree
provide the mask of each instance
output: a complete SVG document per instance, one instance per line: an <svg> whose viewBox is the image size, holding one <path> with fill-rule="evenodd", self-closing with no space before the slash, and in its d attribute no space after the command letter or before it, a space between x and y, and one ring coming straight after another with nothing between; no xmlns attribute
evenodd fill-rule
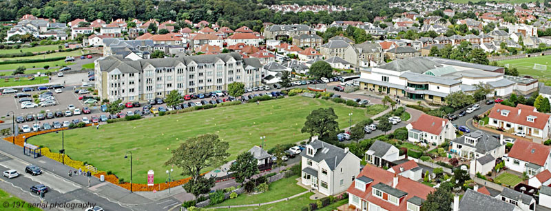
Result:
<svg viewBox="0 0 551 211"><path fill-rule="evenodd" d="M243 184L245 180L258 174L258 161L251 152L241 152L238 154L236 162L231 163L229 171L233 172L236 182Z"/></svg>

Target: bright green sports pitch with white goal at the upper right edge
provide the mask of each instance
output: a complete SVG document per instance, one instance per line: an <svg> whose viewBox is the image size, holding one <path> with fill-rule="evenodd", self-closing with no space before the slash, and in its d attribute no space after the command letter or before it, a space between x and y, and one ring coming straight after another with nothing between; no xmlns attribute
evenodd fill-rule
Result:
<svg viewBox="0 0 551 211"><path fill-rule="evenodd" d="M509 68L517 68L520 75L529 75L531 77L539 79L546 85L551 85L551 55L543 57L530 57L522 59L511 59L497 61L499 66L505 66L509 64ZM547 70L534 69L534 63L547 66Z"/></svg>

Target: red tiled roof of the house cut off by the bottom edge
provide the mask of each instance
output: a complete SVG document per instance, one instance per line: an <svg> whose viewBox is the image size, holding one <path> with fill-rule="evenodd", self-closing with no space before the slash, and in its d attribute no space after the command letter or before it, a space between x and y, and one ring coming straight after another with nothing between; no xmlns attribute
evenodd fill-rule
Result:
<svg viewBox="0 0 551 211"><path fill-rule="evenodd" d="M426 199L426 196L430 192L435 191L434 188L431 188L428 185L424 185L422 183L418 183L417 181L413 181L406 177L397 175L398 184L396 185L395 188L407 193L405 199L402 199L399 201L400 202L399 206L396 206L387 201L383 201L382 199L379 199L373 196L373 194L371 194L373 185L376 185L378 183L384 183L386 185L393 186L394 175L395 174L393 172L388 172L381 168L377 168L373 165L366 165L362 170L362 172L360 172L360 174L357 175L356 178L365 176L373 179L373 182L366 185L366 191L362 191L355 188L355 181L353 181L352 185L350 185L349 189L346 190L346 192L349 192L349 194L353 194L357 197L360 197L363 200L369 201L370 203L375 203L376 205L379 205L381 208L384 208L385 210L407 210L408 199L413 197Z"/></svg>

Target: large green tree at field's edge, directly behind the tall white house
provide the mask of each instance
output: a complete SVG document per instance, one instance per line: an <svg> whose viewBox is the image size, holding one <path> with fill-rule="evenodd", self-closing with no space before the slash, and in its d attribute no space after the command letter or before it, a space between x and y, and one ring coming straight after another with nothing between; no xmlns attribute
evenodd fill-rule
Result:
<svg viewBox="0 0 551 211"><path fill-rule="evenodd" d="M337 114L335 114L333 108L319 108L318 110L313 110L308 117L306 117L304 127L302 127L300 132L308 132L310 136L318 134L320 137L323 137L324 134L339 130L337 118Z"/></svg>

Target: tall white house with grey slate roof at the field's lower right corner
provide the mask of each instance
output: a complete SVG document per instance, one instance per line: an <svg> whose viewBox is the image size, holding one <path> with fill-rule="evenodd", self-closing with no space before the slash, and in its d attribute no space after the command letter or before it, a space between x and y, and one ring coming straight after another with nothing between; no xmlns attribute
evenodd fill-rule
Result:
<svg viewBox="0 0 551 211"><path fill-rule="evenodd" d="M360 158L349 148L338 148L316 139L306 145L300 156L301 183L327 196L344 192L360 173Z"/></svg>

